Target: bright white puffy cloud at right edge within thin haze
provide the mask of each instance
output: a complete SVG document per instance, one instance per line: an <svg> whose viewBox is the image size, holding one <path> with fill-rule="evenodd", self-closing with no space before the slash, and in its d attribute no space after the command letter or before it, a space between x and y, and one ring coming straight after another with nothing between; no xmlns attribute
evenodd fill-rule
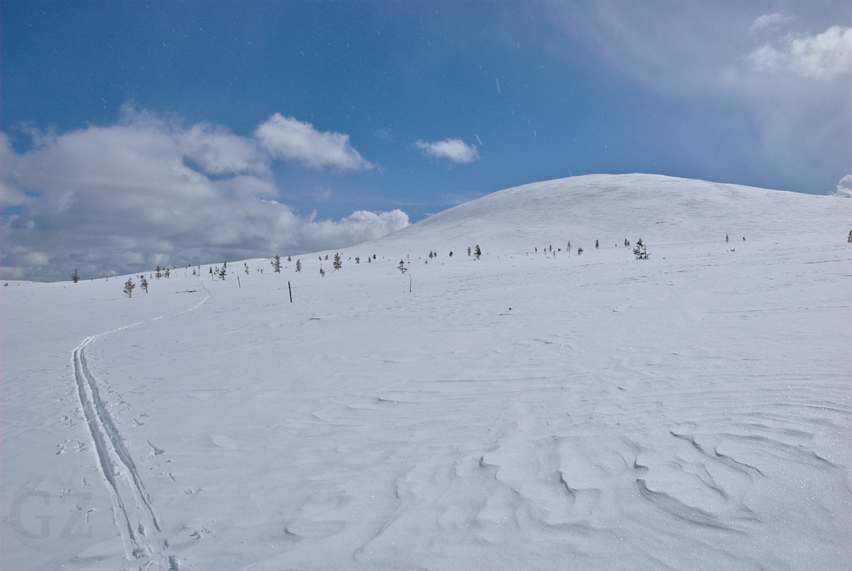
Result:
<svg viewBox="0 0 852 571"><path fill-rule="evenodd" d="M815 36L786 36L748 56L758 72L831 80L852 73L852 28L832 26Z"/></svg>

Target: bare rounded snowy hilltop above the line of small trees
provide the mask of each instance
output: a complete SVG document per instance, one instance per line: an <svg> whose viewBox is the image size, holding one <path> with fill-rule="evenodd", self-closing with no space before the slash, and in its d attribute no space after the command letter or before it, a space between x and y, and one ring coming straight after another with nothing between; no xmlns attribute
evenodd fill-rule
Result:
<svg viewBox="0 0 852 571"><path fill-rule="evenodd" d="M656 244L725 234L780 239L821 230L815 220L836 225L843 236L850 214L852 202L838 197L660 175L586 175L487 194L376 243L419 251L418 245L445 250L479 241L508 253L567 240L588 247L589 240L613 245L638 237Z"/></svg>

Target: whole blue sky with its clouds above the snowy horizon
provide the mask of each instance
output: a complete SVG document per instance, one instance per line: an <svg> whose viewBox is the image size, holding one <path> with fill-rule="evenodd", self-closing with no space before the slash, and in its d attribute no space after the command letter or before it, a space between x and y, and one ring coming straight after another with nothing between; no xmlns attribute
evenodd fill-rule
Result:
<svg viewBox="0 0 852 571"><path fill-rule="evenodd" d="M5 279L343 247L562 176L852 172L848 2L0 10Z"/></svg>

